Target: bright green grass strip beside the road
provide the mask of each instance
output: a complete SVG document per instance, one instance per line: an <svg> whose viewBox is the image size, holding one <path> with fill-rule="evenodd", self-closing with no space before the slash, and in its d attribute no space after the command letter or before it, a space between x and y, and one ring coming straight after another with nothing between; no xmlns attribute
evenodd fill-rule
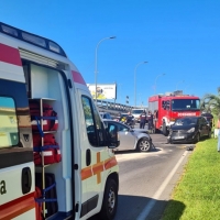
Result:
<svg viewBox="0 0 220 220"><path fill-rule="evenodd" d="M196 145L162 219L220 220L220 153L217 152L217 139Z"/></svg>

